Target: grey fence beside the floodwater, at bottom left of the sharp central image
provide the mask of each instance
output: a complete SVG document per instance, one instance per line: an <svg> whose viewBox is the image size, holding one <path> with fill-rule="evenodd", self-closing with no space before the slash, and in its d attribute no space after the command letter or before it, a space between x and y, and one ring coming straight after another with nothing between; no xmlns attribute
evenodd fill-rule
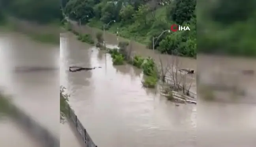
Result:
<svg viewBox="0 0 256 147"><path fill-rule="evenodd" d="M75 128L77 129L77 132L81 136L82 140L85 143L85 147L97 147L97 145L94 144L92 139L90 138L89 134L85 130L85 127L81 124L79 119L77 118L77 115L75 115L74 110L70 108L69 104L66 104L66 108L68 109L68 119L70 119L70 122L75 125Z"/></svg>

